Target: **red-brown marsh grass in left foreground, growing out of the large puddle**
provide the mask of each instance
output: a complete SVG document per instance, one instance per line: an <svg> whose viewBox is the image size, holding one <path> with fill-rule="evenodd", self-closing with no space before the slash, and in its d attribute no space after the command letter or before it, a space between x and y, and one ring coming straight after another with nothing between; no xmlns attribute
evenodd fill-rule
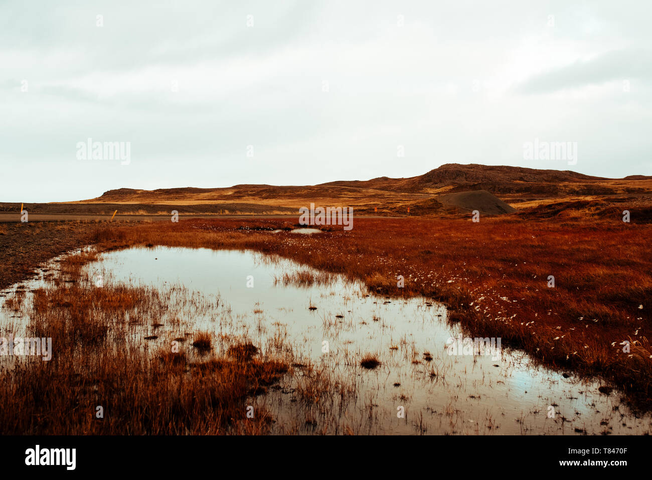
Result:
<svg viewBox="0 0 652 480"><path fill-rule="evenodd" d="M189 350L149 352L126 342L130 316L140 315L145 325L159 318L158 292L96 288L74 271L82 265L70 260L63 274L78 282L35 290L33 303L22 306L28 331L52 337L52 359L20 358L0 369L3 434L269 432L273 417L256 396L283 378L287 359L214 356L190 363ZM210 338L201 332L196 340L205 344ZM231 348L256 347L232 342ZM249 406L253 418L246 415Z"/></svg>

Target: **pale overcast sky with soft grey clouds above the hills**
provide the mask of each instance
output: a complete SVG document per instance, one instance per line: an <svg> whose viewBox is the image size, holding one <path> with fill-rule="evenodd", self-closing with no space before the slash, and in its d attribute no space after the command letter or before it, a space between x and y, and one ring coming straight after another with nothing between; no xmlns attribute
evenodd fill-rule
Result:
<svg viewBox="0 0 652 480"><path fill-rule="evenodd" d="M648 0L142 4L0 2L0 201L452 162L652 175ZM88 138L128 164L78 159ZM576 164L524 159L535 138Z"/></svg>

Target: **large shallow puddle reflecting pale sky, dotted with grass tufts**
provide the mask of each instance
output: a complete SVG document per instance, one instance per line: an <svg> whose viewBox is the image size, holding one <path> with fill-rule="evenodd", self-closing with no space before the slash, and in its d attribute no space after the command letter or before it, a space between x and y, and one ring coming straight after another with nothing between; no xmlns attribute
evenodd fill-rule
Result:
<svg viewBox="0 0 652 480"><path fill-rule="evenodd" d="M316 229L297 229L316 230ZM319 230L316 230L319 232ZM53 263L55 265L55 263ZM284 274L311 271L289 260L254 252L205 248L130 248L108 252L85 271L104 285L156 288L168 308L162 325L143 325L136 344L163 346L176 335L172 318L192 329L246 335L263 351L290 348L297 364L312 362L330 372L340 391L355 387L348 400L322 398L310 418L299 412L301 367L289 384L259 397L273 413L273 433L295 431L357 434L642 434L650 415L636 417L615 391L599 393L597 382L564 378L533 364L519 351L497 357L449 355L447 341L460 331L447 325L446 309L422 298L370 295L357 282L295 286ZM44 275L44 274L42 274ZM25 296L42 277L25 282ZM16 290L16 286L1 292ZM5 298L0 297L0 304ZM310 309L312 308L312 309ZM25 318L0 310L0 327L20 331ZM144 337L156 337L143 340ZM327 342L328 353L322 350ZM215 350L223 353L220 342ZM377 355L366 370L360 361ZM495 352L493 352L495 353ZM6 361L0 358L0 361ZM327 408L327 406L331 408ZM336 406L336 408L332 408ZM555 417L550 418L550 407ZM404 417L397 413L404 411ZM331 415L331 416L329 416ZM334 415L334 416L333 416Z"/></svg>

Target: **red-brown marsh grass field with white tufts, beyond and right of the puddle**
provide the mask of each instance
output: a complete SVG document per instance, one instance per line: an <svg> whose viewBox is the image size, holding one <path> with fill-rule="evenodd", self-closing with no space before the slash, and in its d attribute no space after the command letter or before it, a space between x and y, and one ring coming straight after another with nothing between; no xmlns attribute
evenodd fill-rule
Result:
<svg viewBox="0 0 652 480"><path fill-rule="evenodd" d="M350 232L317 237L237 230L278 228L281 222L160 222L101 229L95 241L109 249L151 244L258 250L362 280L383 295L423 295L446 303L449 320L469 335L501 337L503 346L522 348L550 367L601 376L649 404L650 225L625 224L616 216L507 215L479 223L470 217L359 218ZM554 288L548 287L550 275ZM623 352L621 342L629 338L635 343Z"/></svg>

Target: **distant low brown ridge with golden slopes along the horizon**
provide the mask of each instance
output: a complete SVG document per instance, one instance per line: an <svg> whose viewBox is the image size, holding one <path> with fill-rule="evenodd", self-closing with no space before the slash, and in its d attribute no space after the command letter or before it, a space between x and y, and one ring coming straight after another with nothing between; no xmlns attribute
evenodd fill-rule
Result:
<svg viewBox="0 0 652 480"><path fill-rule="evenodd" d="M243 183L226 188L115 188L101 196L62 205L113 205L120 211L287 213L308 207L355 207L370 215L447 215L478 210L486 215L556 202L596 198L652 195L652 177L630 175L624 179L594 177L571 170L539 170L513 166L444 164L430 172L407 178L331 181L318 185L267 185ZM118 206L116 206L118 205ZM119 205L124 205L119 208ZM99 208L99 207L98 207Z"/></svg>

